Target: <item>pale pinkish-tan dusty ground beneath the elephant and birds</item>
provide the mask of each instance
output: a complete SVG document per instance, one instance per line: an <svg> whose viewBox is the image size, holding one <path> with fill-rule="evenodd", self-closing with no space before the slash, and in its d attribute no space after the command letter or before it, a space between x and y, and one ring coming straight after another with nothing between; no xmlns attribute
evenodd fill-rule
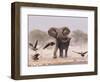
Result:
<svg viewBox="0 0 100 82"><path fill-rule="evenodd" d="M79 54L72 51L87 51L87 46L82 47L70 46L68 50L67 58L59 58L59 50L57 52L57 59L53 59L54 49L39 49L37 53L40 53L39 60L33 60L32 56L36 53L29 48L29 60L28 66L46 66L46 65L62 65L62 64L87 64L88 63L88 53L85 54L85 57L81 57Z"/></svg>

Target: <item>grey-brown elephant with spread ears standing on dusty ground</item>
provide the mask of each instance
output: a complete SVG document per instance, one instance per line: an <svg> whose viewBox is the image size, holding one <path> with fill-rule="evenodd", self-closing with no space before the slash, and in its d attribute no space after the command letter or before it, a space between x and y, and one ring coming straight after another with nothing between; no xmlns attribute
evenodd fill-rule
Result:
<svg viewBox="0 0 100 82"><path fill-rule="evenodd" d="M54 49L53 58L57 58L56 52L59 49L59 57L63 58L63 50L65 50L65 57L69 48L71 38L68 36L70 29L68 27L55 28L51 27L48 30L48 35L55 38L56 45Z"/></svg>

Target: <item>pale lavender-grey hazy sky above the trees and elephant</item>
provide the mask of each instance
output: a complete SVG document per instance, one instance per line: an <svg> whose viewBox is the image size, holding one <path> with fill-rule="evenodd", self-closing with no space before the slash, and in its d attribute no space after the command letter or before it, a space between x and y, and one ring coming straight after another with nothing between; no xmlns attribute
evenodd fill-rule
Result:
<svg viewBox="0 0 100 82"><path fill-rule="evenodd" d="M29 32L34 29L47 31L50 27L69 27L71 31L79 29L87 33L88 18L86 17L65 17L65 16L28 16Z"/></svg>

